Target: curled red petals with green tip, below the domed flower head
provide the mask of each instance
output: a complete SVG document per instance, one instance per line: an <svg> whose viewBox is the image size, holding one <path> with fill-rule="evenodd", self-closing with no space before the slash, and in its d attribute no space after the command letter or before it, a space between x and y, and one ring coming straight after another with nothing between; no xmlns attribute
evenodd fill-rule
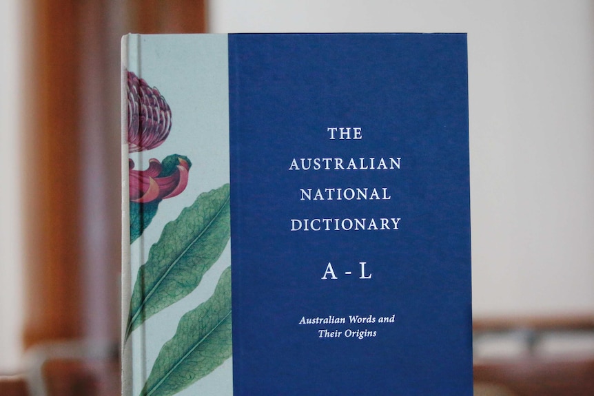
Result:
<svg viewBox="0 0 594 396"><path fill-rule="evenodd" d="M192 163L185 156L167 156L161 164L149 160L144 171L134 170L134 161L128 159L130 171L130 202L147 203L172 198L187 186L188 171Z"/></svg>

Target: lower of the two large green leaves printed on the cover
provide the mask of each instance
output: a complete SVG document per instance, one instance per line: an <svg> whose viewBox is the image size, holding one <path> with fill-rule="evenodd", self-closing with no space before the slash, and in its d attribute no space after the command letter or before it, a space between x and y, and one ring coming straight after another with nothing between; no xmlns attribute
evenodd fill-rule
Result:
<svg viewBox="0 0 594 396"><path fill-rule="evenodd" d="M163 345L141 396L170 396L187 388L232 355L231 267L209 300L183 315Z"/></svg>

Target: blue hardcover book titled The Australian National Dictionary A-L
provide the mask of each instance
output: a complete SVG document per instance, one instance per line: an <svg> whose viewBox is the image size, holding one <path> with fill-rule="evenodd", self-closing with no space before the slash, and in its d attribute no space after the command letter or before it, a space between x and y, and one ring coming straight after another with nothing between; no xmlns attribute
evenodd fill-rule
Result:
<svg viewBox="0 0 594 396"><path fill-rule="evenodd" d="M466 34L122 49L123 394L472 395Z"/></svg>

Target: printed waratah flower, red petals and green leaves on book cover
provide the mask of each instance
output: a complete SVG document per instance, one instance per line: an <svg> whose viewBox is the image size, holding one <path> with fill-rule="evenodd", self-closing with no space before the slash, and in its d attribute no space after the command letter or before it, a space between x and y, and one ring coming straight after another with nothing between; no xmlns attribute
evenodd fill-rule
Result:
<svg viewBox="0 0 594 396"><path fill-rule="evenodd" d="M129 152L161 145L172 129L172 110L144 79L127 72ZM164 200L185 191L192 163L172 154L149 160L130 173L130 241L141 237ZM152 315L190 294L223 253L230 237L229 185L200 194L161 231L140 267L130 300L125 339ZM175 395L214 371L232 355L231 270L227 267L212 296L187 312L158 353L141 395Z"/></svg>

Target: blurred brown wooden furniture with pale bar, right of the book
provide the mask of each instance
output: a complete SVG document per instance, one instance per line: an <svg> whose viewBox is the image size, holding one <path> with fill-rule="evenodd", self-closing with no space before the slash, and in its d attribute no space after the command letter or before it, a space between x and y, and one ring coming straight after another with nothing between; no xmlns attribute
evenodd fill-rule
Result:
<svg viewBox="0 0 594 396"><path fill-rule="evenodd" d="M481 351L487 342L491 353ZM594 316L475 320L473 345L479 386L515 396L594 395Z"/></svg>

